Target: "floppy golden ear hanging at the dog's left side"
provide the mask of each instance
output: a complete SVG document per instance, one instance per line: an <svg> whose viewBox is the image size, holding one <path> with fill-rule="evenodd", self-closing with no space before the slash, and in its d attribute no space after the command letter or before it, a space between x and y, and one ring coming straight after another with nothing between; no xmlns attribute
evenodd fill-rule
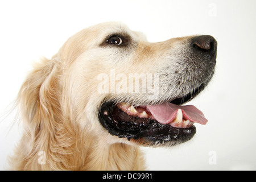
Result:
<svg viewBox="0 0 256 182"><path fill-rule="evenodd" d="M42 60L28 75L18 95L22 119L28 125L50 127L59 110L59 79L57 65L53 60Z"/></svg>

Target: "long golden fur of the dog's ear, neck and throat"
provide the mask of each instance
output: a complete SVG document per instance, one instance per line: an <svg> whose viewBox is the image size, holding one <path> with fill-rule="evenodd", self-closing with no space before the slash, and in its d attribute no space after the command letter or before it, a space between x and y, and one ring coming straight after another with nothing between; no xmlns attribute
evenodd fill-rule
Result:
<svg viewBox="0 0 256 182"><path fill-rule="evenodd" d="M102 150L102 142L97 142L63 113L58 67L57 61L44 59L20 89L18 102L24 135L10 159L12 169L143 169L137 147L116 143ZM45 164L39 163L40 151L47 154Z"/></svg>

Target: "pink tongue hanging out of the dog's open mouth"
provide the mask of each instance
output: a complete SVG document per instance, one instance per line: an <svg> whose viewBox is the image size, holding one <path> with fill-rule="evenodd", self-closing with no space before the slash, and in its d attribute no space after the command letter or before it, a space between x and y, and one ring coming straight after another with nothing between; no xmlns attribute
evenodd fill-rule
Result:
<svg viewBox="0 0 256 182"><path fill-rule="evenodd" d="M179 106L167 102L160 105L151 105L146 107L155 119L162 124L172 122L176 118L178 109L182 110L184 120L200 123L201 125L205 125L208 122L202 111L193 105Z"/></svg>

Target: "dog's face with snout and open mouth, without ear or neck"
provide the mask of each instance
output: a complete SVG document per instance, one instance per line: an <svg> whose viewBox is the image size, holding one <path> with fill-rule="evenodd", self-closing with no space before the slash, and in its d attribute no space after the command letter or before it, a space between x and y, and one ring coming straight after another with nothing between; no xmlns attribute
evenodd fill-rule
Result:
<svg viewBox="0 0 256 182"><path fill-rule="evenodd" d="M207 86L216 49L212 36L149 43L119 23L86 28L55 56L64 61L66 110L106 143L185 142L196 133L193 123L207 119L181 105Z"/></svg>

